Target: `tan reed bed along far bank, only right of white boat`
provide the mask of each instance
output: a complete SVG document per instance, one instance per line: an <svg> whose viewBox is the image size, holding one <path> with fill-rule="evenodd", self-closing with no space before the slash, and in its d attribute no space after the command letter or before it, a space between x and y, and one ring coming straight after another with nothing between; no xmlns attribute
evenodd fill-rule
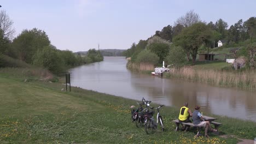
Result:
<svg viewBox="0 0 256 144"><path fill-rule="evenodd" d="M168 78L207 83L220 87L235 87L249 90L256 89L255 70L234 72L183 67L175 69L174 73L168 73L165 76Z"/></svg>

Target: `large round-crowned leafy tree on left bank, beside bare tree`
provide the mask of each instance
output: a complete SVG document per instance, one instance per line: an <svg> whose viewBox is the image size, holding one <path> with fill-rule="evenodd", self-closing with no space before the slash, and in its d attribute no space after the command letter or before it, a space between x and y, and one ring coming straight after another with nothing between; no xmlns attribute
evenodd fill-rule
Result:
<svg viewBox="0 0 256 144"><path fill-rule="evenodd" d="M32 63L32 57L37 50L50 45L48 35L37 28L24 30L13 40L13 46L18 51L20 60Z"/></svg>

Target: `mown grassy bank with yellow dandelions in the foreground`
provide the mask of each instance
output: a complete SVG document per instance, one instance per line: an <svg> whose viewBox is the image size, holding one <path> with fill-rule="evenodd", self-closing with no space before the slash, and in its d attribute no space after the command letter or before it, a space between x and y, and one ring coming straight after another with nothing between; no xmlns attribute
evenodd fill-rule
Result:
<svg viewBox="0 0 256 144"><path fill-rule="evenodd" d="M0 70L0 143L236 143L210 135L195 138L196 131L175 132L173 107L162 107L166 131L146 135L131 122L135 100L73 87L62 92L61 83L3 74ZM210 115L211 116L211 115ZM256 123L219 117L221 134L254 139Z"/></svg>

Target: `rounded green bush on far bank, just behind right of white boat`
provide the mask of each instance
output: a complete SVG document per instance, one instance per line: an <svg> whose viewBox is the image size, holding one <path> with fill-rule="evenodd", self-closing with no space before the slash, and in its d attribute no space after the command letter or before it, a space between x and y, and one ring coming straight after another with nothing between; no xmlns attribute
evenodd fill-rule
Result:
<svg viewBox="0 0 256 144"><path fill-rule="evenodd" d="M166 60L175 67L181 67L186 61L184 53L181 46L172 46Z"/></svg>

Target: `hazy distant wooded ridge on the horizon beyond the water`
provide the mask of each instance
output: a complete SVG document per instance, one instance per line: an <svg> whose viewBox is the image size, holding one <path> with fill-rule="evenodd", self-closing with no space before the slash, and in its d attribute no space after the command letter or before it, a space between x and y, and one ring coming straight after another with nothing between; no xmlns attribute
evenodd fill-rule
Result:
<svg viewBox="0 0 256 144"><path fill-rule="evenodd" d="M119 49L104 49L100 50L102 56L124 56L123 52L125 50L119 50ZM79 51L75 52L79 55L86 56L88 51Z"/></svg>

